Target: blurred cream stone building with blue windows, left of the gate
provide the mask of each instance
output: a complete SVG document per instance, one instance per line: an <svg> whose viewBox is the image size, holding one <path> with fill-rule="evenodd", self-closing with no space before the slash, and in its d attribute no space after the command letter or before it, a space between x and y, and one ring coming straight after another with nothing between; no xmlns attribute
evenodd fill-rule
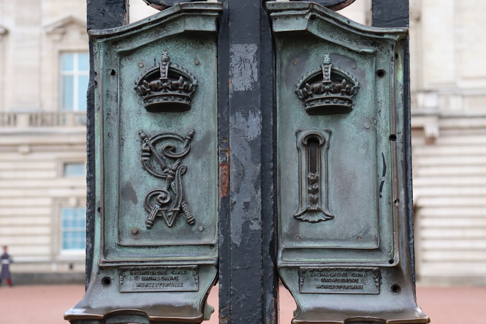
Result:
<svg viewBox="0 0 486 324"><path fill-rule="evenodd" d="M14 280L84 272L88 72L85 1L0 0L0 244Z"/></svg>

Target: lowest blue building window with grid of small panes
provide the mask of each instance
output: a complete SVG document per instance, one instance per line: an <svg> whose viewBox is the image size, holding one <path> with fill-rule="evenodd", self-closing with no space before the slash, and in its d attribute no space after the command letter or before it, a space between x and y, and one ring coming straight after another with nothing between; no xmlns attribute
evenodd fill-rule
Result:
<svg viewBox="0 0 486 324"><path fill-rule="evenodd" d="M86 208L63 207L61 216L61 250L84 252L86 249Z"/></svg>

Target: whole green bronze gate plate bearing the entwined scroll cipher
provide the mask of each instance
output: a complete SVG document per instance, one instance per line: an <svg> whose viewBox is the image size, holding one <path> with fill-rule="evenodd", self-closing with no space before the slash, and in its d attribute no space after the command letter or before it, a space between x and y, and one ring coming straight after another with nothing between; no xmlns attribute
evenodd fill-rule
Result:
<svg viewBox="0 0 486 324"><path fill-rule="evenodd" d="M97 264L65 314L72 323L201 323L213 310L205 300L218 260L221 10L180 4L89 33Z"/></svg>

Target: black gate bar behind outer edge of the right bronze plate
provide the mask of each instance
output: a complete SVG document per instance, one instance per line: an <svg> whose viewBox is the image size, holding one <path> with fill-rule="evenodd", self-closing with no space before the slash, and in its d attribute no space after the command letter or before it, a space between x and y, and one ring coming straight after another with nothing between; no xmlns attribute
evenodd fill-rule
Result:
<svg viewBox="0 0 486 324"><path fill-rule="evenodd" d="M372 26L375 27L409 27L409 0L396 0L390 5L388 0L372 0ZM404 150L405 150L405 190L408 238L410 246L410 263L412 266L412 280L415 284L415 254L414 254L414 207L412 196L412 143L410 129L410 51L409 42L405 46L405 57L403 58L403 122Z"/></svg>

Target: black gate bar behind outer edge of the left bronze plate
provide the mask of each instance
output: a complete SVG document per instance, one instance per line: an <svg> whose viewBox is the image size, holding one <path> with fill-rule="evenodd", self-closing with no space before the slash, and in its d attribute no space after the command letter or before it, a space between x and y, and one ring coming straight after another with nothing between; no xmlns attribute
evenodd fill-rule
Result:
<svg viewBox="0 0 486 324"><path fill-rule="evenodd" d="M118 27L128 23L128 0L87 0L87 30ZM89 41L89 83L87 90L87 204L86 204L86 287L93 265L95 206L95 156L94 156L94 67L93 45Z"/></svg>

